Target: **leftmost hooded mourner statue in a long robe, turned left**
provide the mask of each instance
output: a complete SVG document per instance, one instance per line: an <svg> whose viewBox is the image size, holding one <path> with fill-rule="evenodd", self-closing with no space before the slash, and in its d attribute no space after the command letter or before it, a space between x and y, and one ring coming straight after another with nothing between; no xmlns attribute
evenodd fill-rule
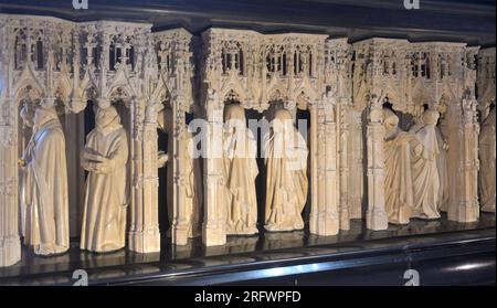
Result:
<svg viewBox="0 0 497 308"><path fill-rule="evenodd" d="M21 164L24 243L38 255L61 254L70 247L65 138L55 108L38 107L33 135Z"/></svg>

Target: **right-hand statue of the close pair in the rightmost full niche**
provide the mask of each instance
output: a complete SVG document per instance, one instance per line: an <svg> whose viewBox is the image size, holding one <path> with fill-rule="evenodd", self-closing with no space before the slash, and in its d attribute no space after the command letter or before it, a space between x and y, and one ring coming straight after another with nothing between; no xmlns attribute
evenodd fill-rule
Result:
<svg viewBox="0 0 497 308"><path fill-rule="evenodd" d="M425 110L422 116L423 125L415 126L410 130L415 135L415 138L411 141L414 217L430 220L440 217L440 179L436 168L440 149L435 132L438 117L438 111Z"/></svg>

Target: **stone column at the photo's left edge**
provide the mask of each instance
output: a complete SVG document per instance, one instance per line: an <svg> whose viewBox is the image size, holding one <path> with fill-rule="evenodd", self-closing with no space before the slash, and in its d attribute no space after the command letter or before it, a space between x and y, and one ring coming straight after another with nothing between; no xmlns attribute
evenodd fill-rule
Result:
<svg viewBox="0 0 497 308"><path fill-rule="evenodd" d="M12 99L0 96L0 266L10 266L21 259L17 121Z"/></svg>

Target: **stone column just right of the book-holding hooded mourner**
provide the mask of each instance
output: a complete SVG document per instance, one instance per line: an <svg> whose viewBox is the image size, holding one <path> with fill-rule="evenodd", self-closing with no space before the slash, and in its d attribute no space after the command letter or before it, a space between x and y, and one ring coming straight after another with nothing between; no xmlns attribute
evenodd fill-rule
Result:
<svg viewBox="0 0 497 308"><path fill-rule="evenodd" d="M137 253L160 252L157 169L157 111L145 99L131 104L131 226L129 249Z"/></svg>

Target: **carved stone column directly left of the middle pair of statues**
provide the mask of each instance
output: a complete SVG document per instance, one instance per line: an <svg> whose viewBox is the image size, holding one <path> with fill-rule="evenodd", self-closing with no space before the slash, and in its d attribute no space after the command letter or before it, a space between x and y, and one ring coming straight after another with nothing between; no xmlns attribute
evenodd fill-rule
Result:
<svg viewBox="0 0 497 308"><path fill-rule="evenodd" d="M204 221L202 242L205 246L226 243L226 211L223 209L224 174L222 160L223 106L211 92L207 106L207 134L204 157Z"/></svg>

